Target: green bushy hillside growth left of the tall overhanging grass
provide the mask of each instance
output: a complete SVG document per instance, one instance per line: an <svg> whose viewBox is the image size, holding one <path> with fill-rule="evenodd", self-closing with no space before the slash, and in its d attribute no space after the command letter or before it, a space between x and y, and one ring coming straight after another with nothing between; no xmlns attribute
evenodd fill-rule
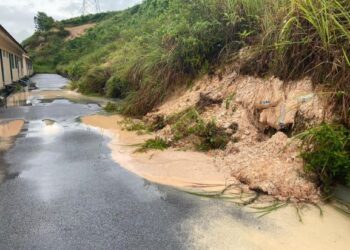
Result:
<svg viewBox="0 0 350 250"><path fill-rule="evenodd" d="M35 34L26 44L35 63L54 65L79 81L84 92L125 97L124 113L142 115L178 85L189 84L229 51L249 43L257 20L254 6L262 0L251 1L146 0L125 11L60 22L97 22L80 38L49 36L42 46ZM106 64L113 78L106 79L107 90L99 90L95 87L106 85L92 72ZM94 76L98 84L91 86Z"/></svg>

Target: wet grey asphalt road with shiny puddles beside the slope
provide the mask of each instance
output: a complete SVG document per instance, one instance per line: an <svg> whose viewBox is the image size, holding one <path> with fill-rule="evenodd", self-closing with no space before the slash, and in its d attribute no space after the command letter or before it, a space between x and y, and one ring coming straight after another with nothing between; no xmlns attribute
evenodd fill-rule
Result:
<svg viewBox="0 0 350 250"><path fill-rule="evenodd" d="M55 76L36 81L41 88L60 86ZM9 174L0 184L1 250L196 249L193 223L205 227L222 213L254 220L232 205L149 183L118 166L108 138L77 120L98 111L67 100L0 111L2 120L26 121L0 157ZM199 212L204 209L211 213Z"/></svg>

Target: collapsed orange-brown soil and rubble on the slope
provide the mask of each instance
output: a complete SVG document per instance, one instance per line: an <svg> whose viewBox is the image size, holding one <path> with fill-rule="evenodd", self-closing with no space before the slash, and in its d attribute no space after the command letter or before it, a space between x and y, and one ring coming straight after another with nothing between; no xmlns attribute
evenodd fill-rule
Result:
<svg viewBox="0 0 350 250"><path fill-rule="evenodd" d="M319 190L304 172L298 157L300 142L291 135L327 119L324 103L309 79L283 82L227 70L198 80L148 113L144 121L153 127L161 121L157 135L173 140L176 134L169 121L175 116L178 122L176 114L196 109L196 119L214 121L230 137L224 150L209 152L219 168L229 169L249 189L280 200L316 201ZM186 148L196 141L193 135L182 137L175 146Z"/></svg>

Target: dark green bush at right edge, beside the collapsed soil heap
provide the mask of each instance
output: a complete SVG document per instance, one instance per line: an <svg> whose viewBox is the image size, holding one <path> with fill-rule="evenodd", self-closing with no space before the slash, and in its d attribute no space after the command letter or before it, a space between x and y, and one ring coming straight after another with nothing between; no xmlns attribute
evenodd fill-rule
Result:
<svg viewBox="0 0 350 250"><path fill-rule="evenodd" d="M315 173L329 194L335 183L350 186L350 131L341 125L323 124L298 135L303 140L305 169Z"/></svg>

